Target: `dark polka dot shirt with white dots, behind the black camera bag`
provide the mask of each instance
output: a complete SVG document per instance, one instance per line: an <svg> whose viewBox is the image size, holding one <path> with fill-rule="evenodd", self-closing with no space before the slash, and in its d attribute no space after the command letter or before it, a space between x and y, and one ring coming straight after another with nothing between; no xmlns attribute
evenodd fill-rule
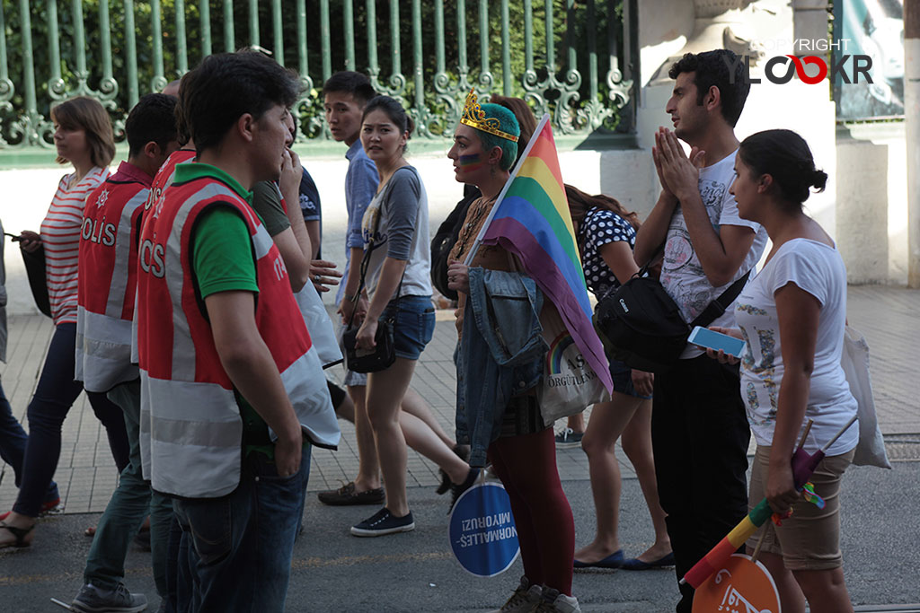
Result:
<svg viewBox="0 0 920 613"><path fill-rule="evenodd" d="M578 231L581 249L581 266L584 279L594 296L600 300L607 291L620 287L614 271L601 257L601 247L615 241L626 241L632 248L636 244L636 231L629 221L612 210L595 207L589 210Z"/></svg>

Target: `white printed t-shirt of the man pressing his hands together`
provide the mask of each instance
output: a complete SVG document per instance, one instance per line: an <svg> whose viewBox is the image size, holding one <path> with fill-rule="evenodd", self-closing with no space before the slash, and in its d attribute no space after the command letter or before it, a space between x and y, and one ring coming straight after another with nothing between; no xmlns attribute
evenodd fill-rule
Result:
<svg viewBox="0 0 920 613"><path fill-rule="evenodd" d="M729 193L729 187L735 178L734 165L737 153L738 151L735 150L716 164L699 171L699 195L703 199L703 205L706 207L709 221L715 231L718 233L719 228L723 225L738 225L751 228L756 233L751 250L731 281L719 288L714 288L709 283L699 263L693 243L690 241L690 233L684 221L684 210L679 204L674 210L671 225L668 227L668 236L664 244L664 261L661 263L661 285L680 307L684 321L688 324L696 318L696 315L703 312L711 301L719 298L735 279L743 277L748 270L752 270L764 253L767 238L765 229L759 223L742 220L738 215L738 203ZM750 279L748 282L750 283ZM732 307L729 307L709 325L734 327L734 324L734 312ZM681 358L696 358L702 354L702 349L688 345Z"/></svg>

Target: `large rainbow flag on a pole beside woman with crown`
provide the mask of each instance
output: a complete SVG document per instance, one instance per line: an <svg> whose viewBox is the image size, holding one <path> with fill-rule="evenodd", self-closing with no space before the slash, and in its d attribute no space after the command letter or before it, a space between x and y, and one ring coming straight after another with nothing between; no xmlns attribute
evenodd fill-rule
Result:
<svg viewBox="0 0 920 613"><path fill-rule="evenodd" d="M569 214L556 142L543 116L521 162L502 188L479 239L521 258L527 274L556 305L569 334L608 392L613 381L592 325L588 287ZM470 254L477 252L474 245Z"/></svg>

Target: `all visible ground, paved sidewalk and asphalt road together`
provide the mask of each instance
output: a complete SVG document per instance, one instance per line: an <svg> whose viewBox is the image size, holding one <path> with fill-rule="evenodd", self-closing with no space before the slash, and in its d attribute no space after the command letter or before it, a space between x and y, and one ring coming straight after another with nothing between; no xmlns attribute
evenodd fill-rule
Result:
<svg viewBox="0 0 920 613"><path fill-rule="evenodd" d="M853 467L845 476L841 547L845 577L857 611L916 611L899 603L920 603L920 516L912 513L920 496L920 378L914 363L920 356L920 291L885 287L851 288L850 324L868 338L882 430L893 471ZM422 355L413 387L431 404L444 428L453 430L454 349L452 313L439 312L431 345ZM4 387L16 414L25 413L52 332L49 320L14 317L10 325L10 359L2 369ZM339 373L333 373L338 376ZM589 416L590 419L590 416ZM342 424L337 452L318 450L310 478L313 491L351 478L357 467L354 430ZM581 449L558 451L559 472L575 518L576 543L594 532L592 492ZM620 454L623 457L623 454ZM620 545L635 554L652 538L648 510L632 468L624 473ZM312 611L444 611L482 613L500 604L523 572L518 560L497 577L469 575L446 548L447 500L434 494L436 469L409 454L409 498L416 517L414 532L385 539L355 539L348 527L373 508L328 507L309 495L305 533L295 544L293 573L286 610ZM0 611L61 610L54 596L69 601L82 582L89 549L83 529L98 520L108 502L116 475L108 444L91 408L82 398L64 423L63 451L55 478L62 484L63 515L41 522L28 550L0 551ZM0 485L0 510L15 498L13 476L6 471ZM126 583L145 593L155 610L158 601L149 553L132 548L126 562ZM677 591L673 570L648 573L575 573L573 589L585 613L673 611Z"/></svg>

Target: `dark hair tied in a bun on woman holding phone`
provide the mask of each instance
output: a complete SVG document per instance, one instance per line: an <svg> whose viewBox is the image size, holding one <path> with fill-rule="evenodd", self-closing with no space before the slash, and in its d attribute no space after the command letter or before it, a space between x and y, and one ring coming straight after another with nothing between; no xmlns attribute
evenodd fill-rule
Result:
<svg viewBox="0 0 920 613"><path fill-rule="evenodd" d="M742 141L738 155L754 177L772 176L779 195L793 210L801 210L811 187L824 191L827 185L827 173L815 168L808 143L794 131L765 130L752 134Z"/></svg>

